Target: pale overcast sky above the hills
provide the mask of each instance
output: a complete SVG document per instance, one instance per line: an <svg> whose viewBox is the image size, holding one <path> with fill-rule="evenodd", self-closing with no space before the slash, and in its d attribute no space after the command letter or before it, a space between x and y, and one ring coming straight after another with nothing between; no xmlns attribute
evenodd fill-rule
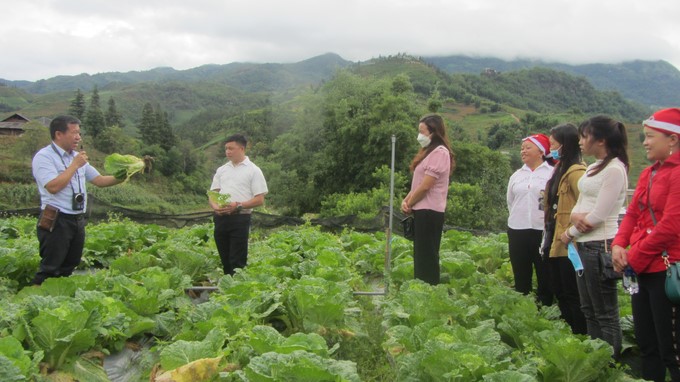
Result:
<svg viewBox="0 0 680 382"><path fill-rule="evenodd" d="M0 78L406 53L680 69L678 0L21 0Z"/></svg>

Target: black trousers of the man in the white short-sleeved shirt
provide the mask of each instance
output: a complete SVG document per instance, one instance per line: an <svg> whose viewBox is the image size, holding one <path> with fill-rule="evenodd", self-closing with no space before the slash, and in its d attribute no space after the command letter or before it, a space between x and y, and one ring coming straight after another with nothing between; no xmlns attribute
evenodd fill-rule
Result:
<svg viewBox="0 0 680 382"><path fill-rule="evenodd" d="M222 260L225 275L233 275L236 268L248 262L250 214L215 215L215 244Z"/></svg>

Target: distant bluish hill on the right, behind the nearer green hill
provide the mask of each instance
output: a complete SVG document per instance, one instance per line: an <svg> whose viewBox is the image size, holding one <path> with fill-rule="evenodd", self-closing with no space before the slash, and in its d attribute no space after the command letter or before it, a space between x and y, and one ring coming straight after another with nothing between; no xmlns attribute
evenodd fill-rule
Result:
<svg viewBox="0 0 680 382"><path fill-rule="evenodd" d="M630 61L621 64L567 65L535 60L504 61L466 56L425 57L447 73L479 74L487 69L511 72L550 68L585 77L599 90L614 90L652 108L680 105L680 71L666 61Z"/></svg>

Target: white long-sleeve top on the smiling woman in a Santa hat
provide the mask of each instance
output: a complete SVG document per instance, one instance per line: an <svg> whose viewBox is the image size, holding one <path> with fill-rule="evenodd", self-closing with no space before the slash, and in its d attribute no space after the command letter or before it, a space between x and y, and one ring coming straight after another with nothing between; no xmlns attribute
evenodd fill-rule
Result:
<svg viewBox="0 0 680 382"><path fill-rule="evenodd" d="M531 171L524 165L508 181L508 227L512 229L543 230L543 196L545 184L553 173L547 162Z"/></svg>

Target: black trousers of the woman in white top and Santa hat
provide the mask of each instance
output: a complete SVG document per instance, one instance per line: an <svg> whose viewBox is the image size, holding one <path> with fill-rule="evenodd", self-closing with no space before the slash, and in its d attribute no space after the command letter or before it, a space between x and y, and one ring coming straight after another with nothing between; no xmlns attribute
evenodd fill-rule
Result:
<svg viewBox="0 0 680 382"><path fill-rule="evenodd" d="M552 305L548 266L538 252L543 231L537 229L508 228L510 265L515 277L515 290L522 294L532 291L531 280L536 269L536 297L543 305Z"/></svg>

